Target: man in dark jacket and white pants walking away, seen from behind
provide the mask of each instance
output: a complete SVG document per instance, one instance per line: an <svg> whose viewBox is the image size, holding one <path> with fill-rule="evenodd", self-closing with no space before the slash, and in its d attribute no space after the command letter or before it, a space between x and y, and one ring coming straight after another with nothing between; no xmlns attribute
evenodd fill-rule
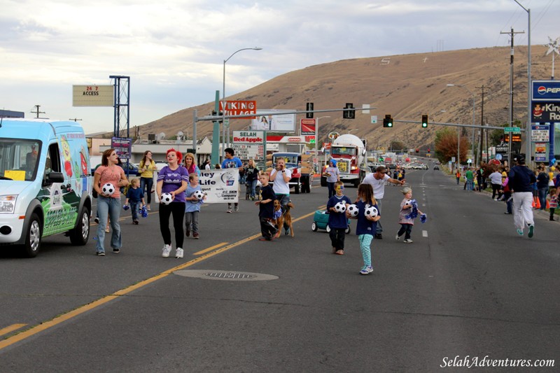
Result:
<svg viewBox="0 0 560 373"><path fill-rule="evenodd" d="M533 220L533 184L537 181L535 173L525 165L525 157L517 155L517 166L512 167L509 174L510 188L513 192L513 223L517 234L523 236L523 230L529 228L528 237L535 234Z"/></svg>

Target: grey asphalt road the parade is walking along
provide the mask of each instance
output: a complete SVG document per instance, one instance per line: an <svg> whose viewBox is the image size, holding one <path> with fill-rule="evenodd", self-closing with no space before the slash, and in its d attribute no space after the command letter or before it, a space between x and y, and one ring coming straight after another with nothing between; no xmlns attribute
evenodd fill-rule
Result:
<svg viewBox="0 0 560 373"><path fill-rule="evenodd" d="M157 209L140 225L123 213L119 254L95 256L94 234L77 248L45 239L34 259L2 248L0 371L455 372L477 363L472 371L510 372L479 366L505 359L554 360L515 369L557 371L559 223L536 213L535 237L519 237L486 193L431 169L407 181L428 221L416 221L412 244L395 241L402 194L388 185L367 276L354 230L345 255L311 231L327 201L320 187L292 196L295 237L272 242L258 241L251 202L232 214L204 206L201 239L186 239L182 260L161 258ZM345 192L353 199L356 188Z"/></svg>

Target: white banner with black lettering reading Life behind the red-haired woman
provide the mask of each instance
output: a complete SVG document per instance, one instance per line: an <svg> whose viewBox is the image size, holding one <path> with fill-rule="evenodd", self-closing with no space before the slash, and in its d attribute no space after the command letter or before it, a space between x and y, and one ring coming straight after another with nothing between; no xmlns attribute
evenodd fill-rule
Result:
<svg viewBox="0 0 560 373"><path fill-rule="evenodd" d="M200 189L207 204L239 202L239 169L200 170Z"/></svg>

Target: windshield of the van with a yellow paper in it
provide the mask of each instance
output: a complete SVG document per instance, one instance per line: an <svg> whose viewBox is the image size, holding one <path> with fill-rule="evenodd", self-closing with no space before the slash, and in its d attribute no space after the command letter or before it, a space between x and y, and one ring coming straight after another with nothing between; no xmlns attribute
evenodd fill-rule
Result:
<svg viewBox="0 0 560 373"><path fill-rule="evenodd" d="M6 180L34 181L41 141L0 139L0 176Z"/></svg>

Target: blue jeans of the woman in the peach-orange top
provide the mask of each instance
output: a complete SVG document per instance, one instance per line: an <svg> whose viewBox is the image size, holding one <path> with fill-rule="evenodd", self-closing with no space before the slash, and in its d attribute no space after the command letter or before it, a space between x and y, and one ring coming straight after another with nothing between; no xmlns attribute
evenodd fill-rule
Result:
<svg viewBox="0 0 560 373"><path fill-rule="evenodd" d="M107 218L111 219L111 247L120 249L123 246L122 237L120 235L120 225L118 219L120 218L120 199L113 197L97 197L97 213L99 214L99 225L97 225L97 243L95 250L98 253L105 252L105 227L107 225Z"/></svg>

